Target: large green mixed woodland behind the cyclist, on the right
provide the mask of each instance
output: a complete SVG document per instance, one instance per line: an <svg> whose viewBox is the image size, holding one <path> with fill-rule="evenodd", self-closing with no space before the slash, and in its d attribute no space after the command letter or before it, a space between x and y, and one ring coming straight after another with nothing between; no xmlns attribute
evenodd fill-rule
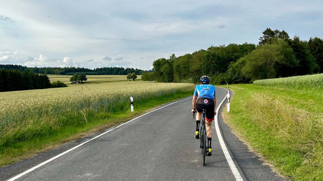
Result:
<svg viewBox="0 0 323 181"><path fill-rule="evenodd" d="M197 83L202 75L213 84L250 83L258 79L323 73L323 40L302 41L287 32L267 28L258 45L211 46L192 54L153 62L154 72L142 80Z"/></svg>

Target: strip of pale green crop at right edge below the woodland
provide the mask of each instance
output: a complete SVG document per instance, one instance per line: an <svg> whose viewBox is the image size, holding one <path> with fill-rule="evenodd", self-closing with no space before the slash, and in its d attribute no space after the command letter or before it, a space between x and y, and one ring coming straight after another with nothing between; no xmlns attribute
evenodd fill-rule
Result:
<svg viewBox="0 0 323 181"><path fill-rule="evenodd" d="M295 76L285 78L273 78L264 80L255 80L255 85L260 86L287 86L296 88L318 87L323 88L323 74Z"/></svg>

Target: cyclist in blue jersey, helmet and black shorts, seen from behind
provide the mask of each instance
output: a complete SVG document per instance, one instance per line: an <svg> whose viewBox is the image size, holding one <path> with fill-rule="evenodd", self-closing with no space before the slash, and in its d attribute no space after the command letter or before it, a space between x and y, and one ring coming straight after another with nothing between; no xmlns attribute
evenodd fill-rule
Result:
<svg viewBox="0 0 323 181"><path fill-rule="evenodd" d="M200 138L200 122L201 122L201 112L202 109L206 109L206 137L209 149L206 150L206 155L211 156L212 155L212 147L211 147L211 141L212 141L212 121L214 119L214 115L216 114L216 111L214 110L216 102L215 102L215 87L210 85L210 77L208 76L202 76L200 78L201 85L197 85L195 87L194 95L193 95L193 109L192 113L194 111L197 111L196 114L196 131L195 131L195 138Z"/></svg>

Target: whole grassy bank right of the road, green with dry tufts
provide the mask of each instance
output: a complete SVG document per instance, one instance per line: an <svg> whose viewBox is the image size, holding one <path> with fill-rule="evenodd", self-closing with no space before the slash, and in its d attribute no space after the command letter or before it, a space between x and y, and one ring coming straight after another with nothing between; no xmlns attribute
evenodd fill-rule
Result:
<svg viewBox="0 0 323 181"><path fill-rule="evenodd" d="M230 85L224 120L249 148L291 180L323 180L323 89Z"/></svg>

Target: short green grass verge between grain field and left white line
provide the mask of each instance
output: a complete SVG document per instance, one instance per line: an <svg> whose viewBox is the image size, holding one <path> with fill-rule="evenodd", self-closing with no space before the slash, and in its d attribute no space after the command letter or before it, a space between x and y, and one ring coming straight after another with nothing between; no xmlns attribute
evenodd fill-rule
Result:
<svg viewBox="0 0 323 181"><path fill-rule="evenodd" d="M7 144L0 148L0 167L25 158L31 158L41 151L53 149L67 141L84 137L91 132L102 130L130 120L152 108L167 102L192 95L191 89L174 90L166 94L145 97L135 102L135 112L130 112L129 102L120 104L113 112L84 112L85 124L64 126L58 131L41 137Z"/></svg>

